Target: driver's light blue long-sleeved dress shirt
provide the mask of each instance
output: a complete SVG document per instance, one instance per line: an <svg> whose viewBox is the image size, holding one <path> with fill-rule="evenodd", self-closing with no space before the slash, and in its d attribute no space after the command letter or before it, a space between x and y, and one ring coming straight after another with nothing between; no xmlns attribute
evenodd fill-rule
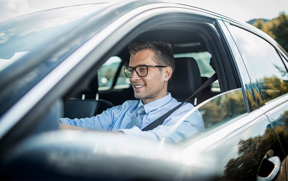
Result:
<svg viewBox="0 0 288 181"><path fill-rule="evenodd" d="M193 120L184 120L177 129L169 135L169 131L172 127L183 117L187 112L194 108L190 103L185 103L178 110L174 111L162 125L149 131L142 131L151 122L161 117L166 112L170 111L181 102L171 97L168 93L167 96L149 102L143 105L142 100L128 100L122 105L117 105L112 108L103 111L102 114L98 114L91 118L81 119L69 119L60 118L59 120L68 125L79 126L86 129L95 129L105 132L122 131L127 136L138 136L141 138L151 138L162 140L163 137L170 142L179 142L185 138L188 138L202 130L204 130L204 122L199 111L193 112L189 117L194 117ZM141 122L141 128L137 126L131 129L125 129L131 122L132 117L138 107L144 106L145 113L141 114L143 117Z"/></svg>

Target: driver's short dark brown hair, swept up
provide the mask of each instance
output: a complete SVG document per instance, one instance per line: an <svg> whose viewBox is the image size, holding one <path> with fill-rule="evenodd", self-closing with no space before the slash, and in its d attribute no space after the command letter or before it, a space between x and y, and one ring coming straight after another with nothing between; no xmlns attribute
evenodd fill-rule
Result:
<svg viewBox="0 0 288 181"><path fill-rule="evenodd" d="M175 69L175 60L173 49L170 43L165 43L163 41L143 40L137 42L132 41L128 46L129 53L133 55L146 49L150 49L154 52L155 56L152 61L160 66L170 66L173 70L173 75ZM162 71L162 68L160 69ZM169 80L171 80L172 75Z"/></svg>

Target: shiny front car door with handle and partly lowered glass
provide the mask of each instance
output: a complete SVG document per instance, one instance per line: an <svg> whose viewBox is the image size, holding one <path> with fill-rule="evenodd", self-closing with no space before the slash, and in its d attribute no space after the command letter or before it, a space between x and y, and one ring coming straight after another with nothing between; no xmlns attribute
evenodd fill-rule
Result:
<svg viewBox="0 0 288 181"><path fill-rule="evenodd" d="M184 126L198 110L205 123L203 132L179 143L186 147L184 161L203 168L213 164L209 165L213 180L261 180L271 172L267 180L286 180L285 166L280 167L285 156L268 117L260 109L248 113L243 95L241 88L221 93L179 120L177 125ZM197 155L205 155L207 160Z"/></svg>

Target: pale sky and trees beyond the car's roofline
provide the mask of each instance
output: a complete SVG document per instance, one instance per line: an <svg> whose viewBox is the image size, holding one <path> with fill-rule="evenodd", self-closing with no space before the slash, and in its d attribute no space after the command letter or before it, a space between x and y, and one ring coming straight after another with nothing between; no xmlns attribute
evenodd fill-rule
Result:
<svg viewBox="0 0 288 181"><path fill-rule="evenodd" d="M41 10L107 1L121 0L0 0L0 22ZM247 22L269 34L288 51L288 0L184 0L184 2Z"/></svg>

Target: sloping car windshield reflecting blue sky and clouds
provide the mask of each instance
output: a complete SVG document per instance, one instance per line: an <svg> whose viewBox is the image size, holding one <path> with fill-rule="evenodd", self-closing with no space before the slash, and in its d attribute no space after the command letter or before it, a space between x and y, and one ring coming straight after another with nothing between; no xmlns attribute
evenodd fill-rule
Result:
<svg viewBox="0 0 288 181"><path fill-rule="evenodd" d="M56 8L1 22L0 71L104 6L107 3Z"/></svg>

